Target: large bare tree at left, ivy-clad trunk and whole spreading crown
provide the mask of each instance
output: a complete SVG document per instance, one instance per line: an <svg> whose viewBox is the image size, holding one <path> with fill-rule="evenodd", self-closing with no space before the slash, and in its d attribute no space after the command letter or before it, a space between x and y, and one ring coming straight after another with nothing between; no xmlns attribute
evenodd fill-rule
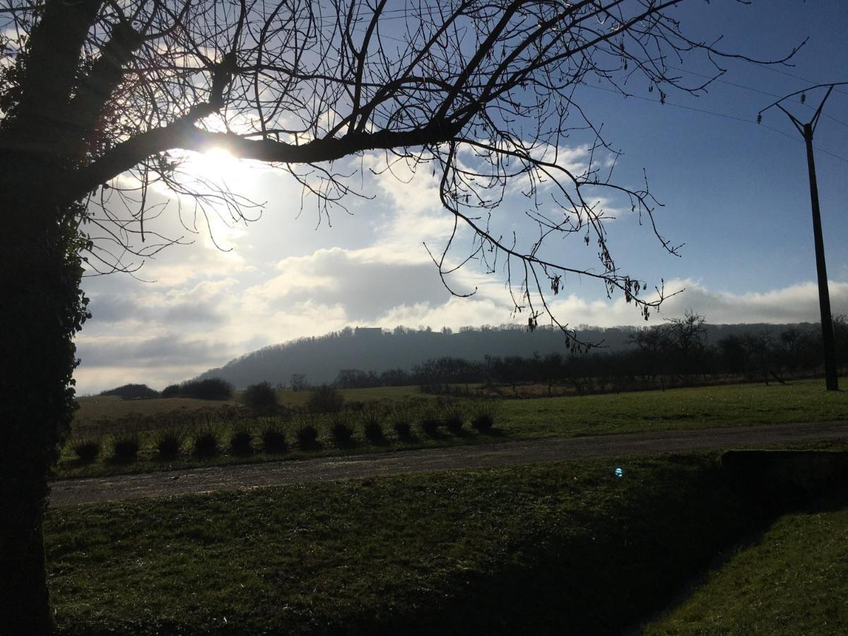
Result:
<svg viewBox="0 0 848 636"><path fill-rule="evenodd" d="M201 221L254 214L237 193L188 176L185 151L223 147L276 165L322 215L363 194L338 159L377 152L383 170L432 170L455 232L474 237L470 252L455 237L432 248L445 284L463 264L502 271L533 327L549 294L579 275L647 317L662 290L645 299L647 282L619 271L597 201L616 199L675 248L656 230L647 182L612 181L616 150L581 108L580 87L625 94L639 77L663 101L703 91L668 60L700 56L720 75L727 54L684 34L673 11L682 1L0 0L0 488L14 511L0 537L0 631L49 628L42 517L74 407L84 269L131 271L181 242L155 230L153 184L191 198ZM578 133L589 159L574 167L561 153ZM510 183L538 228L527 244L497 229ZM546 247L572 234L598 265L570 266Z"/></svg>

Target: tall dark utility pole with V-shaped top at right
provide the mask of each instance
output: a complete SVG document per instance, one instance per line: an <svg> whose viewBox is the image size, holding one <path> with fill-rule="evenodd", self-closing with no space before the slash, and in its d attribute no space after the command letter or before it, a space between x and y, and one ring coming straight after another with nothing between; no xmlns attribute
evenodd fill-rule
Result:
<svg viewBox="0 0 848 636"><path fill-rule="evenodd" d="M833 92L834 86L843 86L848 84L845 81L834 82L833 84L818 84L810 86L803 91L790 93L784 98L778 99L777 102L768 105L756 115L756 122L759 124L762 121L762 114L773 106L784 111L793 123L795 128L801 132L801 137L804 137L806 144L806 167L810 176L810 204L812 207L812 236L816 243L816 272L818 275L818 308L822 314L822 343L824 346L824 382L828 391L839 391L839 378L836 375L836 350L834 346L834 321L830 314L830 292L828 290L828 268L824 261L824 238L822 235L822 215L818 207L818 183L816 181L816 161L812 153L812 136L818 125L818 118L822 114L824 103L828 101L830 93ZM816 114L812 116L812 120L806 124L802 124L795 115L785 109L781 102L795 95L801 95L801 103L806 102L806 92L812 91L815 88L827 87L828 92L824 94L822 102L818 104Z"/></svg>

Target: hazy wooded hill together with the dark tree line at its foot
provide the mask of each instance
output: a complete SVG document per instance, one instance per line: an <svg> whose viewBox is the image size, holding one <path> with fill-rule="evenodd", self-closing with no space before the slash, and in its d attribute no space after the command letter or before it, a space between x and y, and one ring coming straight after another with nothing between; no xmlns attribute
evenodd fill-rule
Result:
<svg viewBox="0 0 848 636"><path fill-rule="evenodd" d="M845 316L837 316L834 327L844 375ZM322 383L438 391L439 385L463 382L536 382L572 385L583 393L599 386L665 387L727 377L783 382L817 374L822 365L821 329L812 323L708 325L702 316L687 314L644 328L581 327L578 334L598 346L571 354L562 332L548 326L533 332L513 325L457 332L345 327L259 349L196 379L222 378L236 388L267 381L296 390Z"/></svg>

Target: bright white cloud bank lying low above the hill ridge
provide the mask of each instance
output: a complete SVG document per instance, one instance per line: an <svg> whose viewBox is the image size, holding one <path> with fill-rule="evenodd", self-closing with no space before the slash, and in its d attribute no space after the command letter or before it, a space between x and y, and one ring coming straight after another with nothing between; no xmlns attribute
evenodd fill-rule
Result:
<svg viewBox="0 0 848 636"><path fill-rule="evenodd" d="M114 332L120 332L122 325L137 325L139 315L159 310L165 314L161 322L142 320L148 323L146 328L133 331L130 326L122 336L102 338L84 332L78 339L82 365L76 373L81 392L125 382L162 388L262 346L348 325L457 329L526 320L523 314L510 313L508 294L495 279L484 283L476 296L455 298L440 288L432 265L429 269L397 265L391 258L379 261L369 253L364 259L355 250L343 249L318 250L309 258L281 263L292 265L288 273L293 280L282 274L247 289L226 281L201 283L184 293L171 290L148 298L104 302L103 320L111 323ZM706 315L712 324L818 321L814 282L766 293L728 293L693 280L669 281L666 289L683 292L667 298L661 313L652 315L647 323L632 304L617 297L588 300L576 293L561 294L551 308L560 321L571 326L653 325L688 309ZM831 282L830 293L834 314L848 313L848 282ZM92 310L97 321L97 299L92 301ZM214 319L206 320L206 311L214 312ZM177 321L175 316L181 319Z"/></svg>

